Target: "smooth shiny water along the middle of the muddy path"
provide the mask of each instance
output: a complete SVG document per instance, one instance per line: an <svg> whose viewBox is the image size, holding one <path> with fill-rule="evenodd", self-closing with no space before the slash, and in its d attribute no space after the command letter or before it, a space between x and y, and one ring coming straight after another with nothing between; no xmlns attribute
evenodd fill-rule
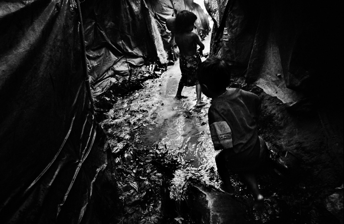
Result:
<svg viewBox="0 0 344 224"><path fill-rule="evenodd" d="M179 64L176 63L174 68L179 69ZM194 167L212 164L214 150L207 124L210 100L203 97L208 105L196 108L195 87L184 87L183 95L189 98L176 101L174 96L180 72L174 68L168 70L160 79L158 92L163 106L156 111L157 125L149 127L142 137L146 143L166 145L169 149L181 152L183 156L180 160L188 161Z"/></svg>

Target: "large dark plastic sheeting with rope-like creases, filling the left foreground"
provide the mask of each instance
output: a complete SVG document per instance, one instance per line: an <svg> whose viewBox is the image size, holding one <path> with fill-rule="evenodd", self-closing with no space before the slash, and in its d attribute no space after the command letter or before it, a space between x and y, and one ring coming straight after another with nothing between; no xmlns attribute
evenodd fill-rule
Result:
<svg viewBox="0 0 344 224"><path fill-rule="evenodd" d="M116 216L79 24L73 0L0 2L0 223Z"/></svg>

